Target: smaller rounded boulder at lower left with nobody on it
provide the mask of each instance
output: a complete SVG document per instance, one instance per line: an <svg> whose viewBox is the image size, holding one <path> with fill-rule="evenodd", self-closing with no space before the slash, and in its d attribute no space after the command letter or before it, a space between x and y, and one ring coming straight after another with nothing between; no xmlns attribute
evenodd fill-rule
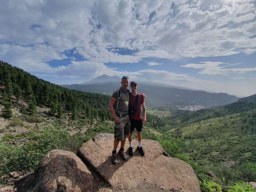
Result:
<svg viewBox="0 0 256 192"><path fill-rule="evenodd" d="M15 180L18 192L84 192L93 190L93 176L73 152L52 150L35 172Z"/></svg>

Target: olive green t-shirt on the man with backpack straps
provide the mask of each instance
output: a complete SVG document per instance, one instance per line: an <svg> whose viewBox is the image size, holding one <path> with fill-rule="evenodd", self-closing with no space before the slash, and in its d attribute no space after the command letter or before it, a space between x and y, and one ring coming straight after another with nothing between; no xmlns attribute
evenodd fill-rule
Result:
<svg viewBox="0 0 256 192"><path fill-rule="evenodd" d="M124 90L120 87L121 90L121 98L118 100L118 111L120 112L128 112L129 109L129 91L126 89ZM115 92L112 94L112 97L116 98L118 97L118 90L115 90Z"/></svg>

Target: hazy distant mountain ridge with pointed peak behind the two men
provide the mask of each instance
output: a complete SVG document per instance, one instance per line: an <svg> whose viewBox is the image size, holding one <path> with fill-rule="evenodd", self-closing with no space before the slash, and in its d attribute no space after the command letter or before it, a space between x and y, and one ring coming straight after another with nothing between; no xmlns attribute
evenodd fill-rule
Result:
<svg viewBox="0 0 256 192"><path fill-rule="evenodd" d="M83 84L62 85L69 89L84 92L101 93L111 95L113 91L121 86L121 78L107 75L99 76ZM200 90L176 88L164 84L139 82L138 92L146 94L147 107L149 108L179 108L200 106L214 107L237 102L239 99L227 93L209 93Z"/></svg>

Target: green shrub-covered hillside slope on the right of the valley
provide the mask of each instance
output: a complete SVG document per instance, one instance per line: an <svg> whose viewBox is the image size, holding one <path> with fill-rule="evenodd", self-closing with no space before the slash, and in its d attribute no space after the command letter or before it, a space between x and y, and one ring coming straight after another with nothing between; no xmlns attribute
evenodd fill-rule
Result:
<svg viewBox="0 0 256 192"><path fill-rule="evenodd" d="M256 163L256 102L236 102L216 109L181 112L162 131L185 141L195 161Z"/></svg>

